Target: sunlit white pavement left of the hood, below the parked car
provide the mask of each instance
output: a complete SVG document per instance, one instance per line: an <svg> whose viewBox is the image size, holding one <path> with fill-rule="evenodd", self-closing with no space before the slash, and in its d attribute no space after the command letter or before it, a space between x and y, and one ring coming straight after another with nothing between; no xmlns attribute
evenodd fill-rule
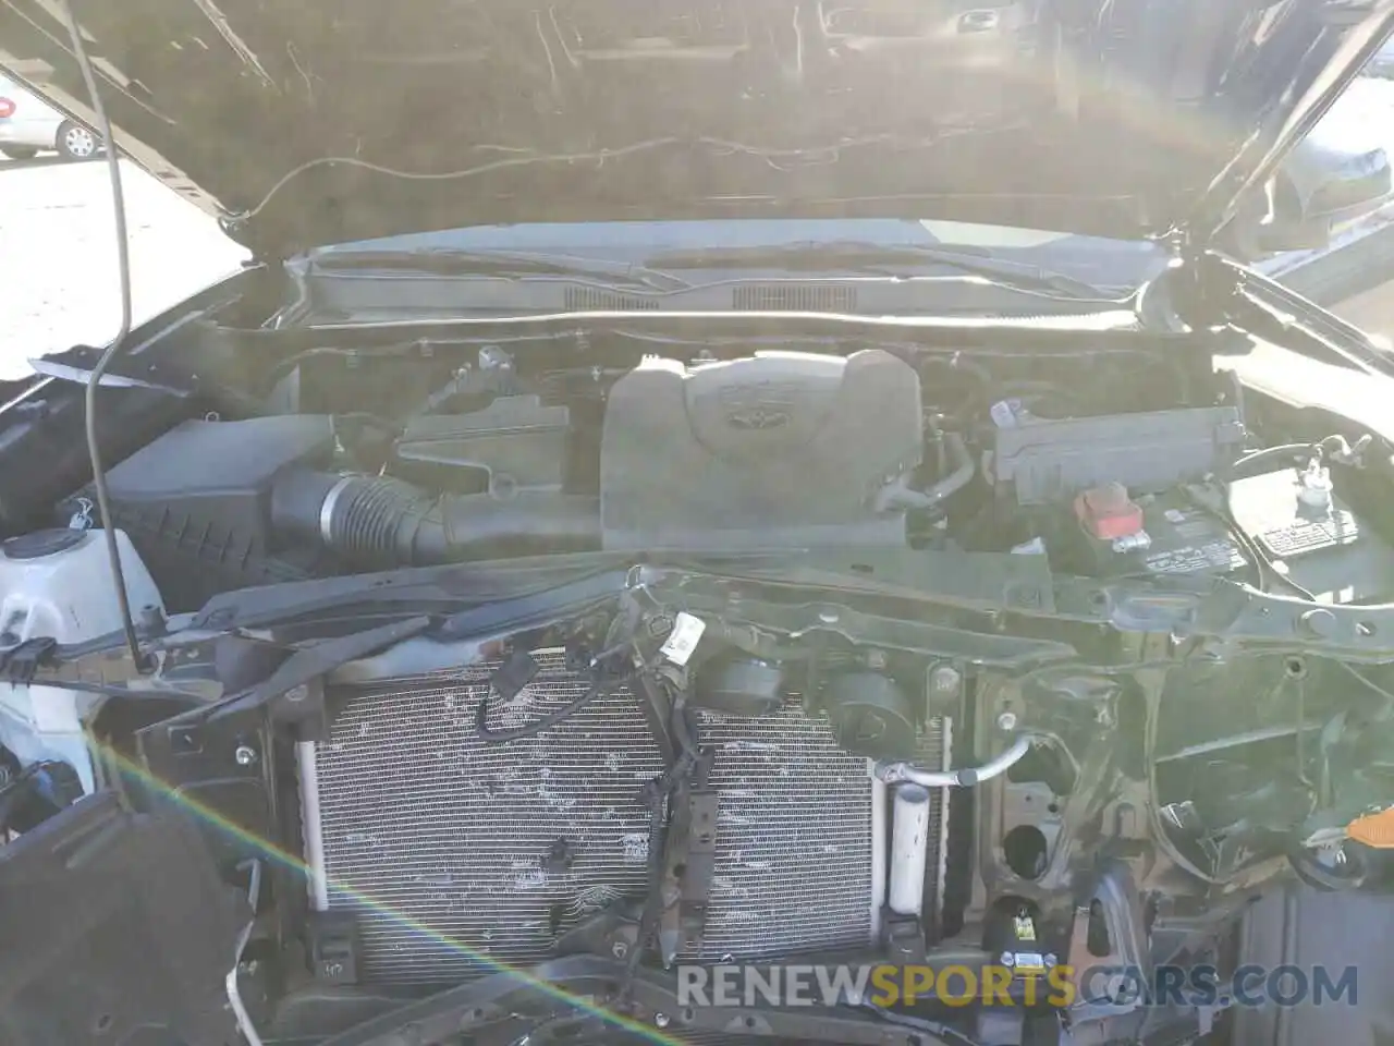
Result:
<svg viewBox="0 0 1394 1046"><path fill-rule="evenodd" d="M215 222L123 163L139 322L234 271L244 251ZM106 165L0 162L0 378L120 324Z"/></svg>

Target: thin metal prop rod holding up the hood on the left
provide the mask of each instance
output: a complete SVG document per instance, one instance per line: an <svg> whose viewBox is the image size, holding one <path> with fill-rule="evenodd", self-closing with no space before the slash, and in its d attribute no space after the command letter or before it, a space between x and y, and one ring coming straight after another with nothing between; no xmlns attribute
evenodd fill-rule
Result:
<svg viewBox="0 0 1394 1046"><path fill-rule="evenodd" d="M116 261L117 278L121 294L121 326L116 338L102 353L88 375L84 392L84 414L86 420L88 459L92 463L92 487L96 491L98 510L102 515L102 534L106 538L106 555L112 563L112 579L116 582L116 600L121 614L121 629L125 633L125 646L131 651L131 662L138 672L146 671L145 658L141 657L139 640L135 635L135 618L131 615L131 596L125 589L125 570L121 568L121 549L113 529L110 495L106 485L106 467L102 463L102 446L96 430L96 396L102 388L102 375L121 351L125 340L131 335L131 250L125 236L125 194L121 190L121 159L116 152L116 141L112 135L112 120L102 105L102 95L96 86L96 75L92 73L92 61L88 59L86 47L82 46L82 31L78 28L77 15L72 13L72 0L60 0L63 17L68 24L68 36L72 39L72 56L77 59L78 70L82 73L82 84L86 86L92 100L92 112L96 114L98 132L106 146L106 169L112 180L112 206L116 211Z"/></svg>

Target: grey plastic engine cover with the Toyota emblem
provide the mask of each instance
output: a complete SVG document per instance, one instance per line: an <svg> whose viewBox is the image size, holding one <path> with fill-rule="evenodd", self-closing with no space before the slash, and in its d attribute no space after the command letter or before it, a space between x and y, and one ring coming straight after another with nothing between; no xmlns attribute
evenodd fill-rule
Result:
<svg viewBox="0 0 1394 1046"><path fill-rule="evenodd" d="M921 456L920 379L882 350L650 358L611 391L605 548L902 545L877 492Z"/></svg>

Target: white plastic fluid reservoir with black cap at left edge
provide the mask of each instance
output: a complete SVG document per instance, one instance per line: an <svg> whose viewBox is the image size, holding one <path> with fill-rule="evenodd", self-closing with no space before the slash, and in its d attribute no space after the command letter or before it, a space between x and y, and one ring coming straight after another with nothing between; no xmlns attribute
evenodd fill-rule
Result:
<svg viewBox="0 0 1394 1046"><path fill-rule="evenodd" d="M131 609L164 609L149 570L123 531L116 533ZM84 643L121 630L106 540L96 530L40 530L0 541L0 649L29 639ZM82 722L102 699L49 686L0 682L0 745L21 763L57 759L93 791Z"/></svg>

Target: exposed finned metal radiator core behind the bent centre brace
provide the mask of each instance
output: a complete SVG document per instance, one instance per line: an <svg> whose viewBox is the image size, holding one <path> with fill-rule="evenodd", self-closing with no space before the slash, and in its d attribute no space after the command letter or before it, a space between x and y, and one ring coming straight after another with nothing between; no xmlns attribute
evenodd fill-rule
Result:
<svg viewBox="0 0 1394 1046"><path fill-rule="evenodd" d="M585 682L560 651L491 725L533 721ZM537 736L475 738L496 665L339 689L315 749L330 911L353 912L378 983L452 983L488 962L548 958L556 936L641 895L643 785L662 768L637 699L618 690ZM825 722L790 699L772 715L703 715L719 791L715 874L700 954L761 960L860 947L873 936L874 782ZM942 764L942 734L921 760ZM940 817L935 801L935 821ZM935 824L931 848L940 840ZM565 844L570 863L549 862ZM551 867L551 870L549 870ZM940 867L930 855L931 874Z"/></svg>

